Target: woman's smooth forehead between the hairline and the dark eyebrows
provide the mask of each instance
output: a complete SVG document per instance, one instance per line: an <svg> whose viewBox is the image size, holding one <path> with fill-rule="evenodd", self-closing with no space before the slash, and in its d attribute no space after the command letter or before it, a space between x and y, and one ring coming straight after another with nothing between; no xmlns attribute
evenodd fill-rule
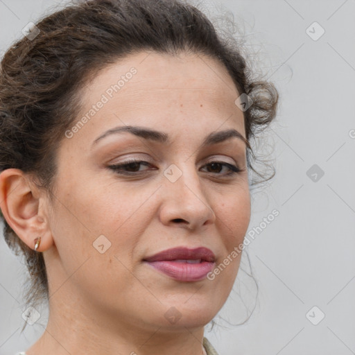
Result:
<svg viewBox="0 0 355 355"><path fill-rule="evenodd" d="M125 124L207 132L225 121L223 129L236 128L245 136L243 112L235 104L238 96L227 69L217 60L185 53L137 53L87 82L77 118L87 119L75 137L93 141L100 132Z"/></svg>

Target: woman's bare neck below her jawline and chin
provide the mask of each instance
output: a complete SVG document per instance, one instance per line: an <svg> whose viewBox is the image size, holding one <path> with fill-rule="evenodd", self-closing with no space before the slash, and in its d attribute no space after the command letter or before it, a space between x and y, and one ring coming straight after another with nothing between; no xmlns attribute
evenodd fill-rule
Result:
<svg viewBox="0 0 355 355"><path fill-rule="evenodd" d="M60 300L59 294L50 298L46 329L26 355L206 355L203 327L136 326L76 297Z"/></svg>

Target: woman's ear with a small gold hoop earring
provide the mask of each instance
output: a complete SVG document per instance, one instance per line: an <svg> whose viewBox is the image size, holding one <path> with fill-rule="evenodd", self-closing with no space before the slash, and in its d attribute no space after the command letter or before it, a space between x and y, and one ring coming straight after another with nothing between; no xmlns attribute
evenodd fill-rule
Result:
<svg viewBox="0 0 355 355"><path fill-rule="evenodd" d="M53 245L47 217L46 196L23 171L9 168L0 174L0 207L8 225L29 248L41 236L37 251Z"/></svg>

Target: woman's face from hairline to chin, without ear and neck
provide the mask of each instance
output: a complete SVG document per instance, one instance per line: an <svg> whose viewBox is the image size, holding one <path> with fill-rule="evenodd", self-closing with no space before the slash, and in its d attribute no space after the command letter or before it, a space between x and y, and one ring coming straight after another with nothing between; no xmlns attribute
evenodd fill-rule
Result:
<svg viewBox="0 0 355 355"><path fill-rule="evenodd" d="M75 302L82 316L126 330L214 318L240 254L206 275L243 242L250 191L243 140L205 139L225 130L245 137L240 94L222 64L202 55L138 53L87 84L80 123L58 150L53 248L44 251L52 304ZM128 126L159 134L117 130ZM114 168L132 159L143 163ZM186 259L201 260L187 263L182 250L146 261L180 247L214 255L190 250Z"/></svg>

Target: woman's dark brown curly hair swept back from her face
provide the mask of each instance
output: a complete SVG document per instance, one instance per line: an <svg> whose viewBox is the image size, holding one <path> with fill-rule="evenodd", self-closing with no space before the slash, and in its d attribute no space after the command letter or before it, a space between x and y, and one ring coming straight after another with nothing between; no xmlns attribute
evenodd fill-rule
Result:
<svg viewBox="0 0 355 355"><path fill-rule="evenodd" d="M239 94L252 100L243 112L249 142L274 119L278 93L272 83L254 78L239 41L229 33L218 33L207 15L182 0L78 1L44 17L1 60L0 171L19 168L51 192L56 150L78 119L80 90L108 64L138 51L184 51L223 63ZM275 175L275 170L268 178L257 172L256 159L249 144L248 171L256 173L252 185ZM6 243L25 257L31 283L27 303L48 300L42 253L29 248L1 218Z"/></svg>

